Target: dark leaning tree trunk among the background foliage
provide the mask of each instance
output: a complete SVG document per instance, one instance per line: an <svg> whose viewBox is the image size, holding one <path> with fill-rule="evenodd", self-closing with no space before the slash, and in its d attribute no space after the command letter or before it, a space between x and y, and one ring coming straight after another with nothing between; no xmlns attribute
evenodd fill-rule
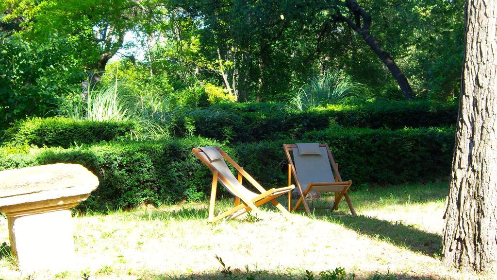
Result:
<svg viewBox="0 0 497 280"><path fill-rule="evenodd" d="M354 21L340 14L339 11L337 11L334 18L336 20L345 22L350 28L352 28L352 30L354 30L355 32L357 32L359 35L362 36L366 44L368 44L368 46L373 50L373 52L376 55L378 55L381 61L385 63L385 66L387 66L388 70L390 70L390 73L392 73L395 80L399 84L399 87L401 88L402 93L404 93L404 96L409 100L413 99L414 92L406 76L399 68L399 66L397 66L392 56L390 56L389 53L387 53L384 49L382 49L380 41L376 37L371 35L369 31L371 28L371 15L367 13L357 3L356 0L345 0L345 6L354 16ZM361 25L361 18L362 18L362 25Z"/></svg>

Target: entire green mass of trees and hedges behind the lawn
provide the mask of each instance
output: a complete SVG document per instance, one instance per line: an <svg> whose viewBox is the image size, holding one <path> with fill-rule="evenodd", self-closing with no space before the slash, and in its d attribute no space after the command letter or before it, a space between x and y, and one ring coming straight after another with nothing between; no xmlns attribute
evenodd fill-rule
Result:
<svg viewBox="0 0 497 280"><path fill-rule="evenodd" d="M351 2L371 16L373 45L347 23L361 21ZM101 180L88 203L120 207L203 197L199 145L222 145L266 186L285 184L282 144L309 141L331 145L354 187L443 177L462 6L0 1L0 169L78 162Z"/></svg>

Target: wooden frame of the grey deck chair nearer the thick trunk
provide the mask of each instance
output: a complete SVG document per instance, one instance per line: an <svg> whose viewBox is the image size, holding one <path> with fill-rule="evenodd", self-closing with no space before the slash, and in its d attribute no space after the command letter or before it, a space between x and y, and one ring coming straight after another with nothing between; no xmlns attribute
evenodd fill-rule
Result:
<svg viewBox="0 0 497 280"><path fill-rule="evenodd" d="M335 193L335 200L333 203L333 206L331 207L331 210L336 210L338 209L338 203L340 200L345 197L345 200L347 201L348 208L350 209L350 213L352 215L355 215L355 210L354 206L352 205L352 202L350 201L350 197L347 194L348 189L352 185L352 181L342 181L342 178L340 176L340 173L338 172L338 164L334 161L333 156L331 155L330 147L326 143L320 143L320 147L326 147L326 150L328 152L328 159L330 160L331 167L333 168L333 174L334 174L334 179L335 182L310 182L309 185L306 186L305 189L303 189L302 185L299 182L298 176L297 176L297 171L295 170L295 164L293 163L292 157L290 155L290 152L293 152L293 148L297 147L297 144L283 144L283 148L285 149L285 154L288 159L288 184L292 183L292 175L295 180L295 184L297 185L297 188L300 193L300 198L298 199L297 203L295 206L292 208L292 194L288 193L288 211L295 211L295 210L302 210L302 208L299 208L300 204L304 204L304 209L306 210L307 214L311 214L311 208L309 207L309 204L307 203L306 195L312 191L312 188L315 186L330 186L330 191L329 192L334 192ZM340 191L340 188L343 187L343 190ZM334 187L333 187L334 186ZM313 209L328 209L330 207L312 207Z"/></svg>

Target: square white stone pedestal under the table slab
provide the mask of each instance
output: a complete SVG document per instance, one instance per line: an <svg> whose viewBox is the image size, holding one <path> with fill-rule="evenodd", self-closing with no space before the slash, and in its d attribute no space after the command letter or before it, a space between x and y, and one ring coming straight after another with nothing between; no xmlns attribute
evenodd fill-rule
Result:
<svg viewBox="0 0 497 280"><path fill-rule="evenodd" d="M70 210L8 217L10 247L19 269L71 270L75 263Z"/></svg>

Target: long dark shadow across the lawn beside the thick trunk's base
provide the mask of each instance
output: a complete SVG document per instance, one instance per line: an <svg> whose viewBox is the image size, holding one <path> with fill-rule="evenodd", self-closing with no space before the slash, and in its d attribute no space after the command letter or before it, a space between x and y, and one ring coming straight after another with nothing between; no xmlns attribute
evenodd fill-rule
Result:
<svg viewBox="0 0 497 280"><path fill-rule="evenodd" d="M442 250L441 236L418 230L402 222L392 224L389 221L366 216L330 217L328 221L429 257L439 256Z"/></svg>

